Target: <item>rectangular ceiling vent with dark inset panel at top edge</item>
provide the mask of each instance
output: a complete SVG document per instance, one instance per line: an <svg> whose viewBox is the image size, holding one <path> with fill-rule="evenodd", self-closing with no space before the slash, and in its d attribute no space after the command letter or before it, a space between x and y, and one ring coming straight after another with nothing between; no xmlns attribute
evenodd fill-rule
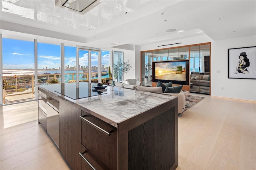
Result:
<svg viewBox="0 0 256 170"><path fill-rule="evenodd" d="M86 14L100 3L100 0L55 0L55 6L66 8L78 14Z"/></svg>

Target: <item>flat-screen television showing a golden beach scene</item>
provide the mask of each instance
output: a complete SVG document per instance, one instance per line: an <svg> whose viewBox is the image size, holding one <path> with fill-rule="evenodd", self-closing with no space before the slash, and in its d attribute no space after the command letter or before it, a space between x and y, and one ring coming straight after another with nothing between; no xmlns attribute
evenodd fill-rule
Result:
<svg viewBox="0 0 256 170"><path fill-rule="evenodd" d="M189 85L189 61L153 61L152 82Z"/></svg>

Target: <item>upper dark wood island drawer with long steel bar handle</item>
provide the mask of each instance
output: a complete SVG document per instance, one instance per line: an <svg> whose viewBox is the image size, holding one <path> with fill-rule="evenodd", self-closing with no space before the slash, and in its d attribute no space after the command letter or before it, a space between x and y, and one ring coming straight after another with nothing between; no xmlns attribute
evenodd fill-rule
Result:
<svg viewBox="0 0 256 170"><path fill-rule="evenodd" d="M82 111L82 145L86 147L104 166L110 170L117 169L117 128ZM90 121L90 123L88 123ZM97 127L110 133L99 130Z"/></svg>

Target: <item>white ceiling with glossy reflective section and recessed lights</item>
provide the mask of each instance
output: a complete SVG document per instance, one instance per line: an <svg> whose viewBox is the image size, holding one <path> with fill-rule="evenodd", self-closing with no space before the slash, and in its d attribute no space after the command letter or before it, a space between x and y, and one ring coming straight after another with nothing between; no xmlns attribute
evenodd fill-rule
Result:
<svg viewBox="0 0 256 170"><path fill-rule="evenodd" d="M213 40L256 35L256 0L100 2L81 15L55 6L54 0L1 0L1 33L3 37L36 38L41 42L64 39L65 45L101 49L163 45L200 35Z"/></svg>

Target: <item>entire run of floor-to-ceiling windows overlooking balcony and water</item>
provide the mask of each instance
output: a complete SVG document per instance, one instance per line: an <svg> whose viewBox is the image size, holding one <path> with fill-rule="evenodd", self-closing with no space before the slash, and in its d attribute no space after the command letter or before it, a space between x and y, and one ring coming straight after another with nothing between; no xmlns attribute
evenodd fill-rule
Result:
<svg viewBox="0 0 256 170"><path fill-rule="evenodd" d="M48 43L46 40L38 42L37 39L22 39L25 38L2 38L3 64L0 69L3 70L4 88L7 91L6 95L4 93L4 104L35 99L36 87L48 83L50 78L61 82L62 70L64 82L76 80L77 69L80 72L80 80L88 81L90 76L91 80L98 82L98 77L111 77L108 68L111 63L110 51L89 47L88 50L81 49L77 59L76 47L64 46L64 69L61 69L61 43L51 44L52 42Z"/></svg>

